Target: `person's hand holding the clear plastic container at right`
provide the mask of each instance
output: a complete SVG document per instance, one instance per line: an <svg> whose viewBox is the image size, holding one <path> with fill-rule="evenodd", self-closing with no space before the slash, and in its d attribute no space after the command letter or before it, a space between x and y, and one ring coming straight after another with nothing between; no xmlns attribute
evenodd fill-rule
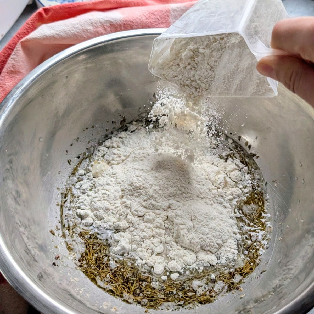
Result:
<svg viewBox="0 0 314 314"><path fill-rule="evenodd" d="M257 63L257 71L314 106L314 17L279 21L273 28L271 46L289 55L264 57Z"/></svg>

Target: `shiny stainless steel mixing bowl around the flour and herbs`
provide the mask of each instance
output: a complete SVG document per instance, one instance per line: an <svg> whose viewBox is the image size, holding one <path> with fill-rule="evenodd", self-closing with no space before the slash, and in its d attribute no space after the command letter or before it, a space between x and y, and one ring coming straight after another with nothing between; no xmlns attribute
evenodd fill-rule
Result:
<svg viewBox="0 0 314 314"><path fill-rule="evenodd" d="M144 312L92 284L75 268L60 231L49 230L60 219L57 187L78 153L106 128L118 127L120 115L131 121L153 100L158 79L147 64L160 32L127 31L69 48L37 67L1 104L0 268L43 313ZM182 314L304 313L314 291L314 110L281 86L273 99L218 101L225 103L227 133L241 135L240 143L248 141L259 155L273 236L241 293ZM59 267L52 265L56 254Z"/></svg>

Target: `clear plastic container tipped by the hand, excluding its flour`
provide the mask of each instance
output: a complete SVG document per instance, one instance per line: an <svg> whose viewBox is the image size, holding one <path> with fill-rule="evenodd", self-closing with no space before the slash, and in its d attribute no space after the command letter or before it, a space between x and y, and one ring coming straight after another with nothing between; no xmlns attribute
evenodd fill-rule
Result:
<svg viewBox="0 0 314 314"><path fill-rule="evenodd" d="M271 34L274 24L288 14L281 0L200 0L191 9L181 16L163 34L154 40L149 61L149 70L154 75L163 77L160 64L169 55L170 48L177 38L187 38L206 35L237 33L241 35L252 54L256 57L256 63L264 56L276 54L270 48ZM228 51L228 62L230 54ZM237 62L236 54L232 62ZM224 60L226 62L226 58ZM220 65L220 69L223 65ZM227 68L225 64L225 68ZM256 69L252 69L252 71ZM225 71L227 73L227 69ZM220 71L219 75L224 75ZM247 73L239 73L239 76ZM229 89L226 92L211 90L210 96L261 96L272 97L277 95L278 82L265 78L263 84L268 84L263 95L252 95L252 91ZM219 95L220 94L220 95Z"/></svg>

